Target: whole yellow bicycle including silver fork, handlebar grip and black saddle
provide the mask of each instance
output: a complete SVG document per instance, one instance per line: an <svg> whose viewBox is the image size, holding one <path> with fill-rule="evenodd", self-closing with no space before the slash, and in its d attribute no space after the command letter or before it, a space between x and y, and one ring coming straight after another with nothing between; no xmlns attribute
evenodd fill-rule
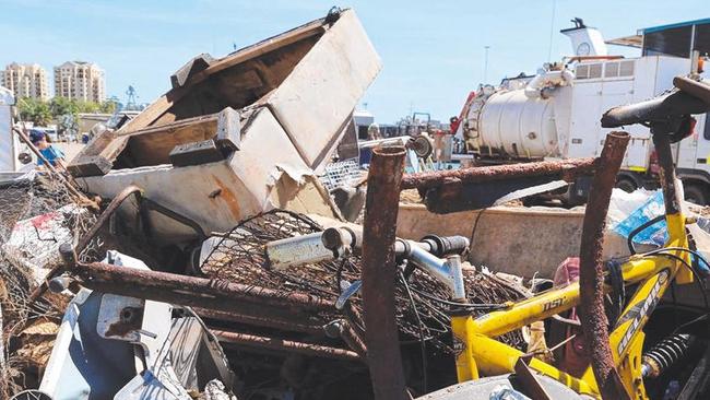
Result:
<svg viewBox="0 0 710 400"><path fill-rule="evenodd" d="M591 321L594 318L582 318L581 325L584 338L592 338L587 343L596 343L600 349L606 349L611 368L606 370L607 375L600 372L604 364L600 360L592 358L591 365L583 373L572 375L552 365L552 363L531 357L530 354L496 340L497 337L530 326L533 322L553 318L570 310L572 307L581 306L583 315L589 311L584 310L584 307L590 307L588 303L594 302L587 302L588 297L585 297L585 302L581 302L580 292L584 291L580 291L579 282L572 282L553 287L518 303L506 304L502 309L478 317L473 317L470 311L465 310L465 307L461 307L461 313L454 313L451 316L451 328L454 337L453 348L459 383L517 373L517 375L523 375L523 379L528 379L529 387L533 387L530 390L533 398L549 398L545 395L545 390L540 383L535 383L536 378L531 374L532 369L539 375L546 376L548 380L552 378L563 384L567 390L571 389L582 397L647 399L649 397L644 379L662 375L664 369L668 368L688 350L688 336L678 337L676 334L675 339L661 340L658 344L660 348L649 352L648 349L644 349L646 333L643 331L654 308L673 282L679 285L693 282L700 283L702 280L700 275L710 273L709 264L697 252L693 239L686 231L686 225L695 221L686 217L682 212L681 189L675 176L671 151L672 143L678 142L693 132L695 120L691 116L710 110L710 86L686 78L676 78L674 83L681 89L679 91L676 90L643 103L613 108L602 117L602 126L605 128L617 128L634 123L648 126L659 157L660 184L664 195L665 214L639 226L631 233L629 244L632 243L634 235L661 221L666 223L668 237L663 247L642 254L636 254L632 245L630 245L631 256L606 262L604 264L606 266L605 270L602 270L601 267L594 270L596 280L600 282L597 297L601 297L603 293L616 294L618 311L616 317L608 320L608 328L604 315L602 315L602 319L596 320L596 325ZM618 134L624 137L624 140L626 140L624 145L626 145L628 134L623 132ZM613 137L614 133L611 136ZM613 140L608 142L611 143ZM620 149L620 153L619 149L615 150L619 165L624 150L625 148ZM614 149L610 152L613 151ZM604 152L602 152L601 158L603 157ZM604 160L597 160L597 162L604 162ZM618 165L614 168L612 170L610 170L608 166L606 168L606 174L612 178L616 176ZM600 174L599 169L603 168L597 168L597 175ZM611 186L613 186L613 183L612 180ZM592 185L592 192L594 190L607 190L606 204L603 205L604 212L608 207L611 186L603 189L595 187L594 184ZM599 205L591 201L592 196L590 196L585 219L590 212L594 212L592 209ZM602 215L603 217L604 215ZM342 228L340 228L340 232L338 230L327 230L323 233L323 244L338 254L339 249L360 240L360 238L356 238L357 235L351 236L348 237L348 234L343 232ZM429 247L421 243L398 239L394 250L399 257L409 259L410 263L443 282L450 289L453 302L465 303L465 286L463 285L459 256L441 259L434 256ZM600 261L599 264L602 266L602 262ZM583 264L581 267L584 268ZM343 296L346 298L357 290L359 290L359 285L353 285ZM705 292L702 293L705 295ZM603 307L601 299L597 304ZM601 314L604 314L603 308ZM699 323L707 319L707 315L703 315L679 328L696 322ZM603 320L603 329L600 328L601 320ZM676 331L679 331L679 329L676 329ZM608 340L606 340L607 332ZM603 338L602 342L599 341L599 338L595 338L596 334ZM590 350L593 357L604 356L605 353L600 349ZM646 354L644 350L647 350ZM524 377L525 374L528 375L526 378ZM600 376L608 380L600 380L602 381L600 385L597 383ZM701 379L697 377L688 379L686 386L679 391L678 398L697 398L697 392L703 385ZM535 387L537 387L536 390ZM453 393L455 390L447 389L446 392ZM439 395L426 398L449 399L449 397ZM469 397L455 396L450 398L469 399Z"/></svg>

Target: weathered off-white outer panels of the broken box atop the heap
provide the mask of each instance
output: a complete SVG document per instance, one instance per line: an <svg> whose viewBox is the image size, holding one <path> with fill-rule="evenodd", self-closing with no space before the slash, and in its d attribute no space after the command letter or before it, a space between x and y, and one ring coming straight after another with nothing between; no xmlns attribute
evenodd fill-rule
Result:
<svg viewBox="0 0 710 400"><path fill-rule="evenodd" d="M194 220L208 233L229 230L273 208L338 217L313 169L329 161L342 127L380 67L355 12L346 10L281 85L248 111L239 150L229 160L111 170L79 181L107 198L137 185L147 198ZM185 226L153 217L156 233L165 238L190 235Z"/></svg>

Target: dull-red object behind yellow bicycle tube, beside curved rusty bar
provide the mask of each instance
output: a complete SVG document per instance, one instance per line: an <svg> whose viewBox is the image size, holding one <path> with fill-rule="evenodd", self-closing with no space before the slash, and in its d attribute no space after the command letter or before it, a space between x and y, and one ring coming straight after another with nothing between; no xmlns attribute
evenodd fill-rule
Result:
<svg viewBox="0 0 710 400"><path fill-rule="evenodd" d="M553 281L555 285L566 285L579 280L579 257L568 257L557 267L555 270L555 278ZM579 320L577 316L577 308L572 308L568 311L568 315L565 316L568 319ZM587 355L587 349L584 349L584 337L582 334L582 329L580 327L568 326L566 338L577 334L572 340L567 342L564 345L564 356L557 362L557 367L565 370L566 373L581 377L587 370L591 360Z"/></svg>

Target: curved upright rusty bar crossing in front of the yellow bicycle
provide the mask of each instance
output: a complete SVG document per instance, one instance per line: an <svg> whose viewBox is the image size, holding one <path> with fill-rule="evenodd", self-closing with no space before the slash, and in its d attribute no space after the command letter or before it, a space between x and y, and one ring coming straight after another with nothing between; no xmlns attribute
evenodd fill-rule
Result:
<svg viewBox="0 0 710 400"><path fill-rule="evenodd" d="M580 321L584 344L591 351L592 369L603 399L629 398L614 366L608 344L602 262L606 213L628 142L629 134L626 132L612 132L606 136L599 157L599 167L592 179L579 250Z"/></svg>

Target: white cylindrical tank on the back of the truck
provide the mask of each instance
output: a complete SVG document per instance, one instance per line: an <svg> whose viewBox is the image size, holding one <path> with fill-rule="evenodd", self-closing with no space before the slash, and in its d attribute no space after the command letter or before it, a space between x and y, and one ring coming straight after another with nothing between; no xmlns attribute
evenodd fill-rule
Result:
<svg viewBox="0 0 710 400"><path fill-rule="evenodd" d="M477 143L511 156L556 156L557 129L553 98L529 98L524 90L500 91L482 105Z"/></svg>

